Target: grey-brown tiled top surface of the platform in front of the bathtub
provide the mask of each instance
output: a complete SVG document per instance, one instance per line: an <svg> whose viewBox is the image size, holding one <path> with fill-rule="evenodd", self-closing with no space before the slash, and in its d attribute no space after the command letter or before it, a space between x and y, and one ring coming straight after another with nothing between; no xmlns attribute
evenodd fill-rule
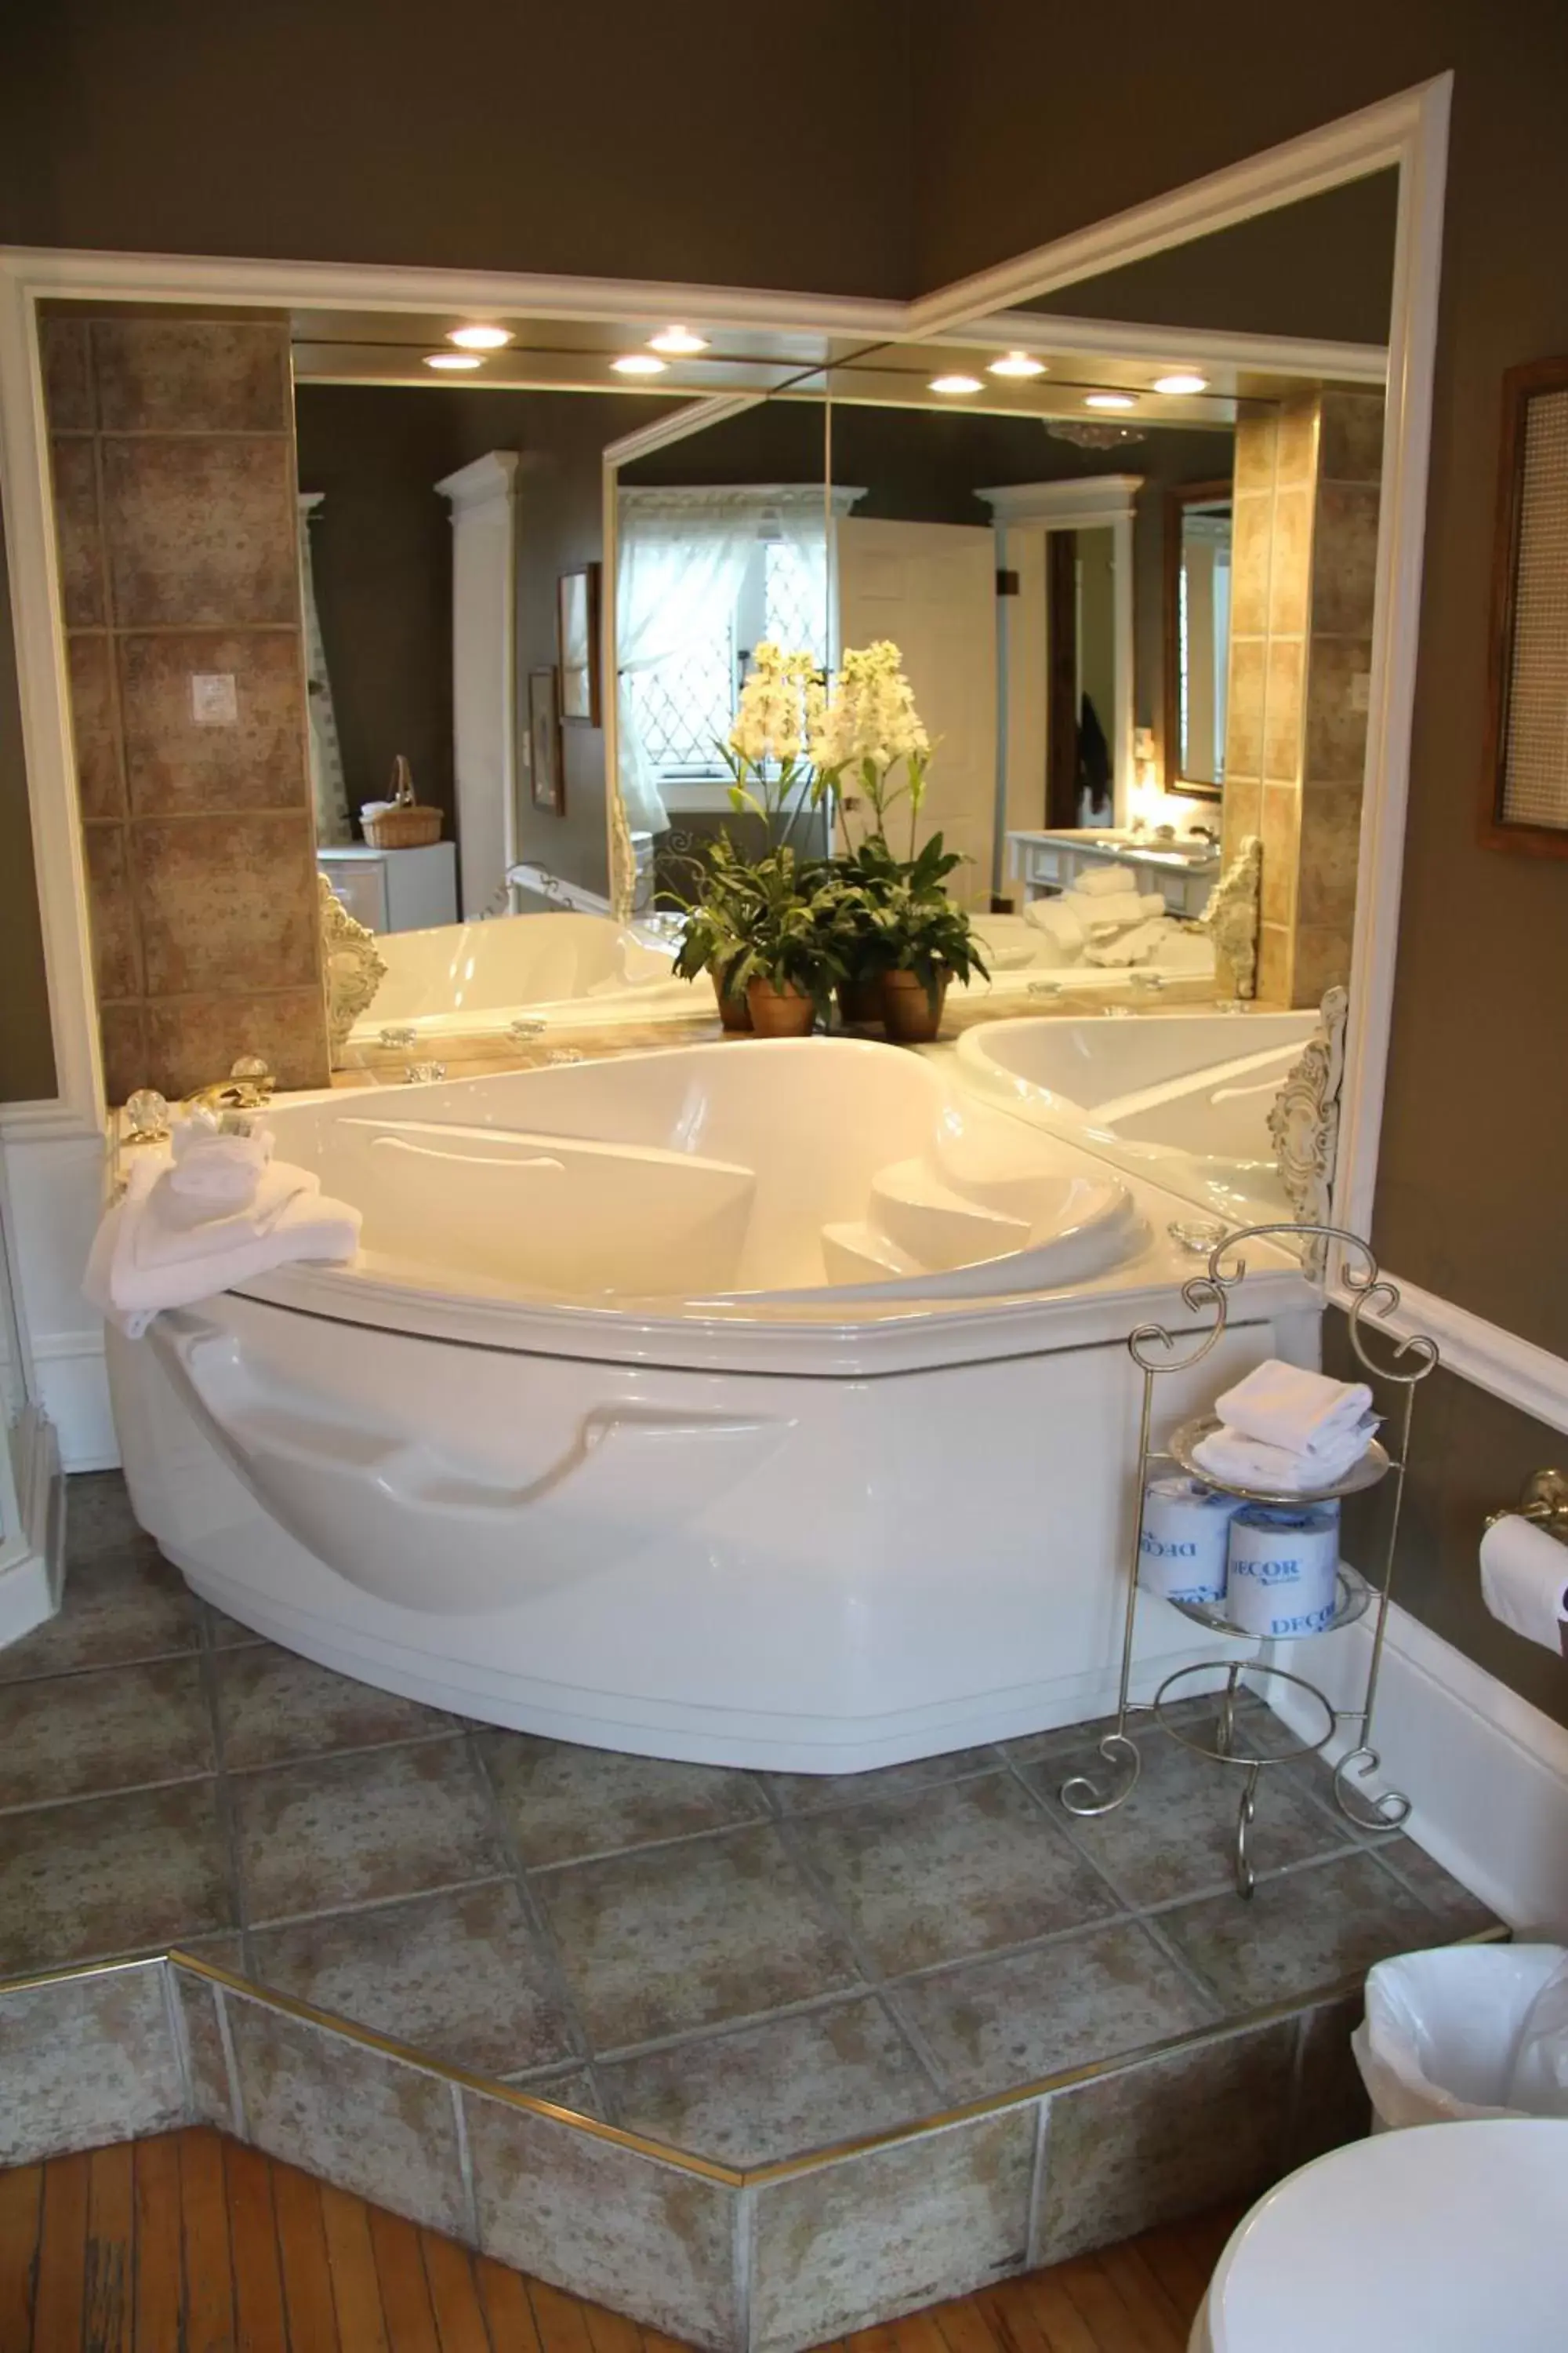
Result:
<svg viewBox="0 0 1568 2353"><path fill-rule="evenodd" d="M849 1779L465 1725L197 1605L73 1480L61 1617L0 1652L0 1974L181 1944L437 2059L736 2165L1312 2002L1488 1925L1326 1774L1150 1734L1103 1821L1081 1729Z"/></svg>

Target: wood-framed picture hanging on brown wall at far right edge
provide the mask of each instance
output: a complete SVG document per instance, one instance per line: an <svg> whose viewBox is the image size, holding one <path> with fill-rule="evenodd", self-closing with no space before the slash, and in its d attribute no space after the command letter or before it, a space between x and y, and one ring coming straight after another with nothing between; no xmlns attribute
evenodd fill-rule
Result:
<svg viewBox="0 0 1568 2353"><path fill-rule="evenodd" d="M1481 840L1568 859L1568 360L1502 379Z"/></svg>

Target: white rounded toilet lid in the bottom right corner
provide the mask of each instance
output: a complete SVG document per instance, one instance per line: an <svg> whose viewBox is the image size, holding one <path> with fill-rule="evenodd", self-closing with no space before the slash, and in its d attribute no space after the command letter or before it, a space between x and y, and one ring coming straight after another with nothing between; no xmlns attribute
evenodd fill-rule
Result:
<svg viewBox="0 0 1568 2353"><path fill-rule="evenodd" d="M1568 2120L1418 2125L1260 2198L1187 2353L1549 2353L1566 2315Z"/></svg>

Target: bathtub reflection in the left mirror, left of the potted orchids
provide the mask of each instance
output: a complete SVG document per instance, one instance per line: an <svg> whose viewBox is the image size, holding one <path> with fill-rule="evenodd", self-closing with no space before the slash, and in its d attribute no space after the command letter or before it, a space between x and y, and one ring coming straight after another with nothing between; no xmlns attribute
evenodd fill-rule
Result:
<svg viewBox="0 0 1568 2353"><path fill-rule="evenodd" d="M353 1045L376 1045L393 1028L435 1040L458 1031L505 1033L512 1021L576 1028L693 1007L689 984L670 972L675 944L609 915L496 915L388 932L376 953L386 979L355 1021Z"/></svg>

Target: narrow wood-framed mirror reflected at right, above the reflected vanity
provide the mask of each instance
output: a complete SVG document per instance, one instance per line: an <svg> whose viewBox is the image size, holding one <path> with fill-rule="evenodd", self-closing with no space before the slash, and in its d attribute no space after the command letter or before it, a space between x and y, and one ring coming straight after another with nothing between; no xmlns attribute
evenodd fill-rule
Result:
<svg viewBox="0 0 1568 2353"><path fill-rule="evenodd" d="M1232 485L1166 492L1166 791L1220 800L1229 694Z"/></svg>

